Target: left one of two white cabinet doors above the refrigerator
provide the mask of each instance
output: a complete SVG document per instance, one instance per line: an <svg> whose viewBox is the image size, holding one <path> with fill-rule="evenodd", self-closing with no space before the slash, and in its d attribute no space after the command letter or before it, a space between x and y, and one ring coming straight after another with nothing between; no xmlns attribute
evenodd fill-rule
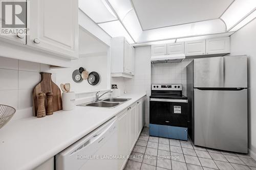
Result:
<svg viewBox="0 0 256 170"><path fill-rule="evenodd" d="M205 55L205 40L186 41L185 55L186 56Z"/></svg>

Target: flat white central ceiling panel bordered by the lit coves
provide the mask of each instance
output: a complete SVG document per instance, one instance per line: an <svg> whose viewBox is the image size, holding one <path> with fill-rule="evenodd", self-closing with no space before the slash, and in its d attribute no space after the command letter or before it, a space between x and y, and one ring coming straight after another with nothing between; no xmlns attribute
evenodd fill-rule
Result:
<svg viewBox="0 0 256 170"><path fill-rule="evenodd" d="M143 30L219 18L233 0L132 0Z"/></svg>

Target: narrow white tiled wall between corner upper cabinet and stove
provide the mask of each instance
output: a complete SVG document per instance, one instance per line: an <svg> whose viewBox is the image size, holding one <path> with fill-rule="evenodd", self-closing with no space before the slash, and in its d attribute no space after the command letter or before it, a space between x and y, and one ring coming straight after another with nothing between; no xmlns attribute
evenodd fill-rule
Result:
<svg viewBox="0 0 256 170"><path fill-rule="evenodd" d="M135 47L135 75L125 79L127 93L146 92L146 126L149 125L149 108L151 94L151 46Z"/></svg>

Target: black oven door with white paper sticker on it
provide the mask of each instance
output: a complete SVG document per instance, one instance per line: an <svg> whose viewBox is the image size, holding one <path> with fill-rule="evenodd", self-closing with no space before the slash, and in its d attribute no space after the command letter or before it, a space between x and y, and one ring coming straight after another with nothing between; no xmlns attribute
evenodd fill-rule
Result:
<svg viewBox="0 0 256 170"><path fill-rule="evenodd" d="M150 124L188 127L187 100L150 99Z"/></svg>

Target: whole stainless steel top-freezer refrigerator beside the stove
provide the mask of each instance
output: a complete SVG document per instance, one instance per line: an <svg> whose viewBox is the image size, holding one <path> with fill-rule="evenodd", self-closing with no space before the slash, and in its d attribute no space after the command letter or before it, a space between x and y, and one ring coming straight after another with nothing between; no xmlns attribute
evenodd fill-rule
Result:
<svg viewBox="0 0 256 170"><path fill-rule="evenodd" d="M195 59L187 66L195 145L247 153L247 57Z"/></svg>

